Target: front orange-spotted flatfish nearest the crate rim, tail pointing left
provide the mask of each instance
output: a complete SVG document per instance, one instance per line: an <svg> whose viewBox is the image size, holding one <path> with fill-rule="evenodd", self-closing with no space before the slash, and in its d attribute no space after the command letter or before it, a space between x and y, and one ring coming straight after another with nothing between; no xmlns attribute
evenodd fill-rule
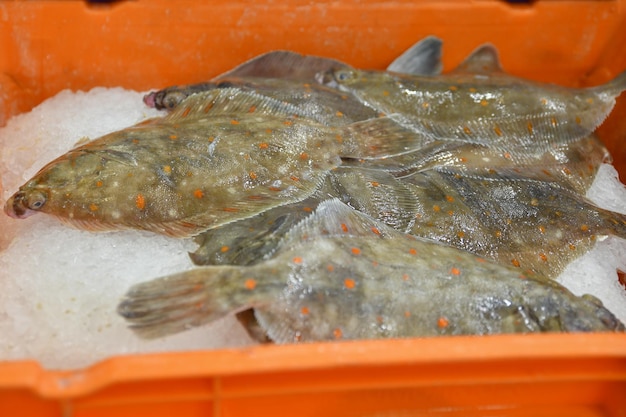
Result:
<svg viewBox="0 0 626 417"><path fill-rule="evenodd" d="M624 331L597 300L396 232L336 199L271 259L132 287L118 307L156 338L254 308L277 343L457 334Z"/></svg>

